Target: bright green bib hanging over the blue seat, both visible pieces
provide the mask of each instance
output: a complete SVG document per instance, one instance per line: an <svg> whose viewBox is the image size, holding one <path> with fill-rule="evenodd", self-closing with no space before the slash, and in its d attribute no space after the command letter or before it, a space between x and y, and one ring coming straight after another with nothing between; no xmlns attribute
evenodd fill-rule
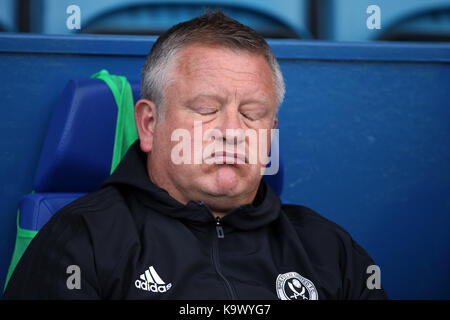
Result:
<svg viewBox="0 0 450 320"><path fill-rule="evenodd" d="M116 102L118 109L116 134L114 137L114 148L110 170L110 173L112 174L125 153L128 151L129 147L138 138L136 123L134 122L133 91L131 90L131 86L127 78L111 75L107 70L101 70L100 72L93 74L91 78L105 81L114 96L114 101ZM35 193L35 191L32 190L32 193ZM8 285L9 279L11 278L17 263L24 254L31 240L33 240L38 233L38 231L20 228L19 222L20 211L18 210L16 243L3 290L6 290L6 286Z"/></svg>

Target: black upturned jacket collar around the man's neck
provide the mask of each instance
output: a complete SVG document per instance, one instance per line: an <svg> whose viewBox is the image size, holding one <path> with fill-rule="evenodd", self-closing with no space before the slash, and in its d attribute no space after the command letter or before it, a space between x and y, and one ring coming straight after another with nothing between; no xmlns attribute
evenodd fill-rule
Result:
<svg viewBox="0 0 450 320"><path fill-rule="evenodd" d="M147 173L146 159L147 155L141 150L139 140L135 141L101 187L114 185L120 189L131 189L133 195L145 206L176 219L196 223L214 221L211 211L203 203L189 201L184 205L154 184ZM277 195L261 180L254 201L237 207L223 217L222 221L224 225L236 229L256 229L277 219L280 207Z"/></svg>

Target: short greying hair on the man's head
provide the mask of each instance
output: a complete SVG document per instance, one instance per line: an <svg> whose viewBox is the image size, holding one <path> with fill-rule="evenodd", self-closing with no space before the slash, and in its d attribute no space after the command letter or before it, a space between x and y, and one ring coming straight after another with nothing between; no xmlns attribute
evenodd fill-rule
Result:
<svg viewBox="0 0 450 320"><path fill-rule="evenodd" d="M153 45L142 69L141 98L155 103L161 119L164 92L176 65L177 53L188 44L211 44L261 54L269 64L277 94L277 112L284 100L285 85L280 66L270 46L255 30L221 11L206 12L179 23L162 34Z"/></svg>

